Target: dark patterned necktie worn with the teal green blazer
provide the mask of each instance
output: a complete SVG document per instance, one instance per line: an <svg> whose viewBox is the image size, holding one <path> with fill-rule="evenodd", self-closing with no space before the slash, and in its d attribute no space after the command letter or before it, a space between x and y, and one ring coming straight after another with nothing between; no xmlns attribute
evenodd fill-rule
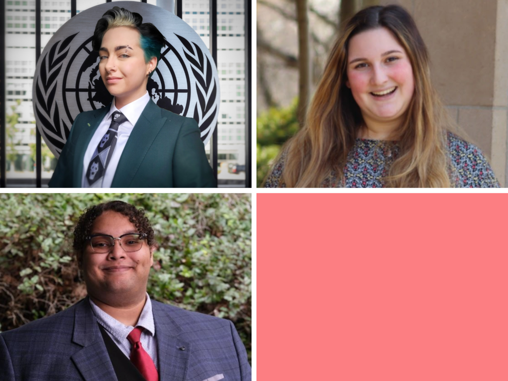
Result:
<svg viewBox="0 0 508 381"><path fill-rule="evenodd" d="M104 180L104 174L108 167L113 151L115 150L118 127L128 119L120 111L111 114L111 124L108 131L102 137L96 150L93 152L88 169L86 170L86 180L89 187L101 187Z"/></svg>

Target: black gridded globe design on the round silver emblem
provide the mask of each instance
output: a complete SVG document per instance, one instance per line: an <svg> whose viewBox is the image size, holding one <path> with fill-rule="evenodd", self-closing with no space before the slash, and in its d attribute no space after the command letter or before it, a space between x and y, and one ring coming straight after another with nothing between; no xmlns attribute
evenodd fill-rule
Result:
<svg viewBox="0 0 508 381"><path fill-rule="evenodd" d="M79 112L106 107L113 100L113 96L102 81L99 72L99 52L91 49L91 40L90 37L74 52L63 76L63 106L71 122L74 122L68 107L71 98L75 98ZM171 55L176 58L172 59L173 65L168 59ZM175 62L180 65L175 67ZM69 73L76 73L75 81L71 80ZM190 105L189 88L189 75L183 59L166 41L160 62L148 80L148 93L157 106L187 116Z"/></svg>

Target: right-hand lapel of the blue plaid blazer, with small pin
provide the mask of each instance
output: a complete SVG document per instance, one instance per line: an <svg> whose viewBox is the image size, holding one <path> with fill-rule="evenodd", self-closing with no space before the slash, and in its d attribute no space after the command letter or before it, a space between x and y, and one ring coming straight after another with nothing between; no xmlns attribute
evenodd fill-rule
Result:
<svg viewBox="0 0 508 381"><path fill-rule="evenodd" d="M177 337L182 329L165 308L152 303L152 313L157 338L159 380L184 381L192 351L190 343Z"/></svg>

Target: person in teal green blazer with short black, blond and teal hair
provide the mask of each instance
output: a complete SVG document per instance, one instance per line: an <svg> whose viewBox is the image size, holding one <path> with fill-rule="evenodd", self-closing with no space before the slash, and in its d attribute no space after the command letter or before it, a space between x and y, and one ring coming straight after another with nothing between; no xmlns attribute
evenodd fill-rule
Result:
<svg viewBox="0 0 508 381"><path fill-rule="evenodd" d="M50 187L214 187L196 120L158 107L147 91L166 45L140 14L113 7L92 48L110 105L74 120Z"/></svg>

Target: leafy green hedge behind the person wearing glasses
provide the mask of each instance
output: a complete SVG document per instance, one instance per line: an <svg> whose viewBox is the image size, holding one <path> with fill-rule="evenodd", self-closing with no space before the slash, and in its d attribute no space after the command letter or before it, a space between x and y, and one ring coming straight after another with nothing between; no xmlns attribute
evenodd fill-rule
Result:
<svg viewBox="0 0 508 381"><path fill-rule="evenodd" d="M250 361L250 194L0 195L0 329L64 310L86 295L72 253L84 208L122 200L145 209L158 249L148 293L234 322Z"/></svg>

